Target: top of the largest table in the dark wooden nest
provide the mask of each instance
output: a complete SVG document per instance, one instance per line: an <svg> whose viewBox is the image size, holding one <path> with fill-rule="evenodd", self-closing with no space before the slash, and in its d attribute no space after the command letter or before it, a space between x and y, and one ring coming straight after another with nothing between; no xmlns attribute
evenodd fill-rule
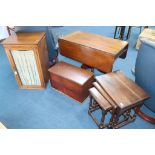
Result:
<svg viewBox="0 0 155 155"><path fill-rule="evenodd" d="M149 97L141 87L120 71L97 76L96 81L121 109L135 105Z"/></svg>

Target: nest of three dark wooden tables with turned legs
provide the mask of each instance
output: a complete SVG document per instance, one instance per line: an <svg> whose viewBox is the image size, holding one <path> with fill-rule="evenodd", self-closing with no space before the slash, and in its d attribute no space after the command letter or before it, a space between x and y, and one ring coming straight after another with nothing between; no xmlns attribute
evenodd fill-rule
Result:
<svg viewBox="0 0 155 155"><path fill-rule="evenodd" d="M136 119L136 109L143 105L149 95L122 72L116 71L95 77L90 91L88 113L99 128L120 128ZM101 109L100 122L93 114ZM105 123L106 114L111 117Z"/></svg>

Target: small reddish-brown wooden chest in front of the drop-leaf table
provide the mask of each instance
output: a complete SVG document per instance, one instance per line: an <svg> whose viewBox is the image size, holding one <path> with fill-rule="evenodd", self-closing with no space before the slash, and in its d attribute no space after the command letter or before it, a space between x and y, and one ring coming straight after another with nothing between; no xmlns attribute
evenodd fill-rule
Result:
<svg viewBox="0 0 155 155"><path fill-rule="evenodd" d="M93 73L67 64L59 62L49 69L52 87L83 102L89 95L89 88L94 80Z"/></svg>

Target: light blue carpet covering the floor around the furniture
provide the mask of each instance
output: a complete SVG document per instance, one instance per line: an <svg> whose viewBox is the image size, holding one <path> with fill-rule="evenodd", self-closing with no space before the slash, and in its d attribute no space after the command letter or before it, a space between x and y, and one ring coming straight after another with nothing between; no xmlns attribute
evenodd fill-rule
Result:
<svg viewBox="0 0 155 155"><path fill-rule="evenodd" d="M63 35L73 31L86 31L113 37L114 27L61 27L55 33ZM129 40L129 50L126 59L117 59L113 70L122 70L134 80L131 68L135 65L137 51L136 39L139 29L133 28ZM59 55L59 60L80 66L81 64ZM101 73L95 70L95 75ZM9 61L2 46L0 46L0 121L7 128L78 128L96 129L96 125L88 115L87 98L79 104L69 97L51 88L50 83L45 90L19 89L12 73ZM145 108L144 108L145 109ZM154 125L137 117L134 123L123 128L155 128Z"/></svg>

